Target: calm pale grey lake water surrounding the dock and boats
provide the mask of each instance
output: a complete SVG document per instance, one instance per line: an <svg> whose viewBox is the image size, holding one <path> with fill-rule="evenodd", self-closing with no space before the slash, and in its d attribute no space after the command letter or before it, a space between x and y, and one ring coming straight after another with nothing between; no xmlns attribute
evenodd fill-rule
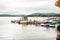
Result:
<svg viewBox="0 0 60 40"><path fill-rule="evenodd" d="M30 17L32 19L33 17ZM38 17L42 21L43 17ZM0 40L55 40L56 31L53 28L40 25L13 24L10 21L19 17L0 17ZM33 18L34 20L35 18Z"/></svg>

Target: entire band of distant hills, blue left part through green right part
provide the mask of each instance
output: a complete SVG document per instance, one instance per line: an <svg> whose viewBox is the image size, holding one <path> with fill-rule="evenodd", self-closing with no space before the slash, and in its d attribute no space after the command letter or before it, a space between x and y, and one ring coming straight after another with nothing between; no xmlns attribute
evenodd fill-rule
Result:
<svg viewBox="0 0 60 40"><path fill-rule="evenodd" d="M0 14L0 17L60 17L57 13L34 13L30 15L11 15L11 14Z"/></svg>

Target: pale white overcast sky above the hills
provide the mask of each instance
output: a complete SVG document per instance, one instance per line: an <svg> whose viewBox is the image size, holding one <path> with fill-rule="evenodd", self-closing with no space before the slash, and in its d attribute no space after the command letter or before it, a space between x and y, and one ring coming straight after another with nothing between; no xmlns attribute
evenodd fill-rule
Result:
<svg viewBox="0 0 60 40"><path fill-rule="evenodd" d="M60 13L56 0L0 0L0 14Z"/></svg>

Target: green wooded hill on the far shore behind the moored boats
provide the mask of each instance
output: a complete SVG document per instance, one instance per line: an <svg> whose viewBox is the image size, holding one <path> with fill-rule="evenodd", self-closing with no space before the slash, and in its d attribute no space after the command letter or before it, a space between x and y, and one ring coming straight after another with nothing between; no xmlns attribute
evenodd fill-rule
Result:
<svg viewBox="0 0 60 40"><path fill-rule="evenodd" d="M28 17L60 17L57 13L34 13L27 15Z"/></svg>

